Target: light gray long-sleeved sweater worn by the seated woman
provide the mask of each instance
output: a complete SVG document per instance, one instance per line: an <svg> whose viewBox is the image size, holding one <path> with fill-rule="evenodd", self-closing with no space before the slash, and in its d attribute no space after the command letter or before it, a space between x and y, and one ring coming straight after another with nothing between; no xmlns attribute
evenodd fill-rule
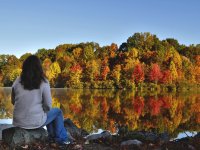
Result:
<svg viewBox="0 0 200 150"><path fill-rule="evenodd" d="M52 106L49 82L43 81L39 89L25 90L18 77L12 86L12 103L14 126L25 129L41 127Z"/></svg>

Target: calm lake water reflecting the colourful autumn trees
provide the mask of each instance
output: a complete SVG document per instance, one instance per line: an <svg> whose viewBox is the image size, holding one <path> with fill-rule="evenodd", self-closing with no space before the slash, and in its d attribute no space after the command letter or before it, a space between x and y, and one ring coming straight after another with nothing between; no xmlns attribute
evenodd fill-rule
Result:
<svg viewBox="0 0 200 150"><path fill-rule="evenodd" d="M0 119L12 118L11 88L0 88ZM172 137L200 131L200 94L138 94L133 91L52 89L53 106L79 127L93 132L131 130L168 131ZM1 123L1 122L0 122Z"/></svg>

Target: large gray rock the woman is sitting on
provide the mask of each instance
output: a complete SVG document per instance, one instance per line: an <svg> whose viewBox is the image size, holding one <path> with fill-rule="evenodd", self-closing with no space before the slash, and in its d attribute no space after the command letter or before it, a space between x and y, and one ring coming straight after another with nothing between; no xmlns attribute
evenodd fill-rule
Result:
<svg viewBox="0 0 200 150"><path fill-rule="evenodd" d="M11 127L2 131L2 139L9 146L15 147L17 145L26 145L37 141L46 141L47 131L44 128L27 130Z"/></svg>

